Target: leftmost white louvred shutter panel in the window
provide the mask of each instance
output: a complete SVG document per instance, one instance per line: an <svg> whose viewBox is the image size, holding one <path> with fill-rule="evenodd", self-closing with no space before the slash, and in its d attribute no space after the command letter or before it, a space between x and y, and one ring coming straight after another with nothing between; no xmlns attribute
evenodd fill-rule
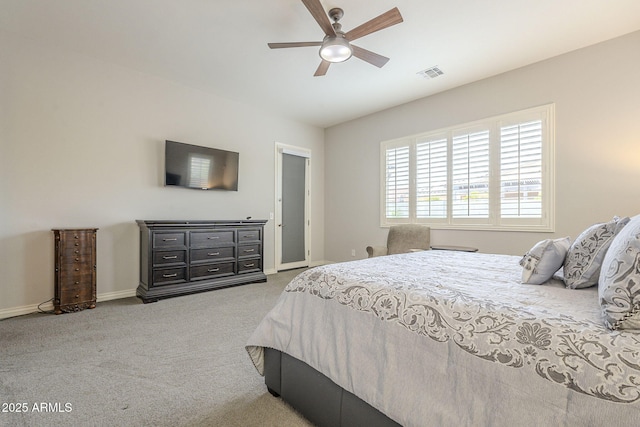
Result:
<svg viewBox="0 0 640 427"><path fill-rule="evenodd" d="M409 218L409 146L386 150L385 216Z"/></svg>

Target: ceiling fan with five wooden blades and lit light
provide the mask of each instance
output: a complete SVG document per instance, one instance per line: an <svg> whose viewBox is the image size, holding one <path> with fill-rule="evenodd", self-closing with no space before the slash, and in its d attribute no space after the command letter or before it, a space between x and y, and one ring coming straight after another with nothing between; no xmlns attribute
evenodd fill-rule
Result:
<svg viewBox="0 0 640 427"><path fill-rule="evenodd" d="M402 16L397 7L388 12L379 15L364 24L354 28L351 31L342 31L342 25L338 23L344 15L344 11L340 8L333 8L329 11L329 16L333 20L333 24L329 21L327 14L320 4L320 0L302 0L302 3L309 9L311 15L322 28L325 37L321 42L290 42L290 43L268 43L271 49L283 49L289 47L320 47L320 66L316 70L314 76L324 76L327 74L329 65L336 62L344 62L351 56L360 58L369 64L381 68L389 61L389 58L361 47L351 44L352 41L364 37L376 31L383 30L392 25L402 22Z"/></svg>

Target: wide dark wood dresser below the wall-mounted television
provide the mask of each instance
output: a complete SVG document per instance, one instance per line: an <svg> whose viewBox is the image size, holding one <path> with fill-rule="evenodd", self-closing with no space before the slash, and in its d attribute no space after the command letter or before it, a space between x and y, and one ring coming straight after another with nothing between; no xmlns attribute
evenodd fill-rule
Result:
<svg viewBox="0 0 640 427"><path fill-rule="evenodd" d="M149 221L140 227L140 284L144 303L217 288L266 282L266 220Z"/></svg>

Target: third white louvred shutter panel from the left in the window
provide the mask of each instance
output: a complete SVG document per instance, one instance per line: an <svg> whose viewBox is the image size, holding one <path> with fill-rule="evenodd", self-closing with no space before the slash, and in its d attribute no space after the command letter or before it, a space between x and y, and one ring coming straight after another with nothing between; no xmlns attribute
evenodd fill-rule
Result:
<svg viewBox="0 0 640 427"><path fill-rule="evenodd" d="M489 131L453 137L452 215L489 217Z"/></svg>

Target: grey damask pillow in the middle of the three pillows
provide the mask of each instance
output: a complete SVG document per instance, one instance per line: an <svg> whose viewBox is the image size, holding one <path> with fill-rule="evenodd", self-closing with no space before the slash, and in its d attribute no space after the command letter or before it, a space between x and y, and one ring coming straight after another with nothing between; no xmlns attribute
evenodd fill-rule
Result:
<svg viewBox="0 0 640 427"><path fill-rule="evenodd" d="M564 261L564 281L568 288L588 288L598 283L607 249L628 222L629 218L615 217L609 222L592 225L578 236Z"/></svg>

